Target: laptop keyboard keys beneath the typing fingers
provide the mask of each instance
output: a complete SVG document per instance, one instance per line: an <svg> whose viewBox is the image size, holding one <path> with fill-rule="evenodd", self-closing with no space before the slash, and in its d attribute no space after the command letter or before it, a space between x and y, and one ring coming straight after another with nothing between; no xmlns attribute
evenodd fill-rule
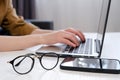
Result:
<svg viewBox="0 0 120 80"><path fill-rule="evenodd" d="M78 54L91 54L92 53L92 39L86 39L85 43L80 43L80 45L76 48L67 45L63 52L78 53Z"/></svg>

